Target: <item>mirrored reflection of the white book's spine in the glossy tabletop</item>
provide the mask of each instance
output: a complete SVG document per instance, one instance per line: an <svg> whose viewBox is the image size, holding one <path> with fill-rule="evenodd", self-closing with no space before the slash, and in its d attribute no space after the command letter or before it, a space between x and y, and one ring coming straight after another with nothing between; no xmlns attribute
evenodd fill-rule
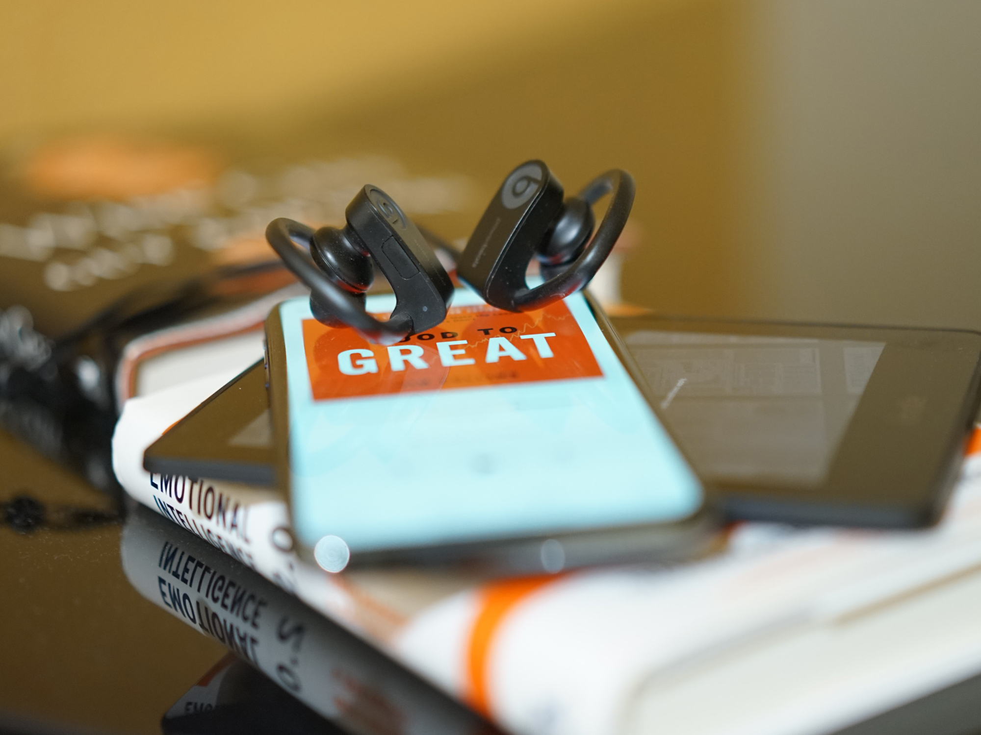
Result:
<svg viewBox="0 0 981 735"><path fill-rule="evenodd" d="M295 597L149 513L129 515L121 557L144 598L358 733L478 735L490 725Z"/></svg>

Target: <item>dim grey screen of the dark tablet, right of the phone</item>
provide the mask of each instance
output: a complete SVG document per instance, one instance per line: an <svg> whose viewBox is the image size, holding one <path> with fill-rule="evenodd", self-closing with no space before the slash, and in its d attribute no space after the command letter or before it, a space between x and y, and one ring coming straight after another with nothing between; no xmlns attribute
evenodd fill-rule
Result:
<svg viewBox="0 0 981 735"><path fill-rule="evenodd" d="M885 342L636 329L661 417L712 481L824 482Z"/></svg>

